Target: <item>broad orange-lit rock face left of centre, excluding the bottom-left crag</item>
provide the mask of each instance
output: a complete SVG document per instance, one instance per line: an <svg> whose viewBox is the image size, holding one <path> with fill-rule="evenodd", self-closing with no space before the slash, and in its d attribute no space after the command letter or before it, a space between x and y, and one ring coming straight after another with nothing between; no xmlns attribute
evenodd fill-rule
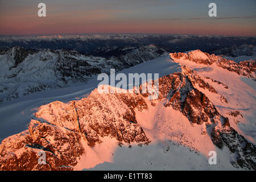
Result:
<svg viewBox="0 0 256 182"><path fill-rule="evenodd" d="M80 133L91 147L101 142L100 137L108 135L120 142L147 143L149 141L135 119L134 109L137 107L147 108L142 96L99 94L94 90L88 98L80 101L69 104L56 101L42 106L35 115L47 119L53 125ZM56 110L58 113L55 113Z"/></svg>

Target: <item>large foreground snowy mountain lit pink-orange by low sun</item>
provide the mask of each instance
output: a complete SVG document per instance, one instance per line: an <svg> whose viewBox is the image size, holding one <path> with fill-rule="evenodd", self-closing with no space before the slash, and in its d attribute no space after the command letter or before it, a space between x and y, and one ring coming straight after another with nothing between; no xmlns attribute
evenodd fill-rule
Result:
<svg viewBox="0 0 256 182"><path fill-rule="evenodd" d="M157 100L95 88L42 105L27 130L0 144L0 169L255 170L255 69L255 60L238 64L200 50L135 65L122 72L160 73Z"/></svg>

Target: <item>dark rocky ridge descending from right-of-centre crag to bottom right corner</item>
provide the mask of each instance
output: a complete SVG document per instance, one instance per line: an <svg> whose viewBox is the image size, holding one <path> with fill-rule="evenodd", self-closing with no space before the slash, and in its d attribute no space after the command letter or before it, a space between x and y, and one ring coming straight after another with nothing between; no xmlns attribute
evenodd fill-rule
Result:
<svg viewBox="0 0 256 182"><path fill-rule="evenodd" d="M256 146L230 127L229 119L218 113L216 107L205 94L193 87L192 72L187 71L185 73L185 76L181 73L174 73L160 78L159 91L161 97L159 98L167 96L165 106L172 106L174 109L180 110L191 123L201 125L206 122L208 128L211 126L213 143L218 148L227 146L233 154L236 154L237 157L232 159L234 167L239 165L245 169L255 170ZM202 83L201 85L205 84ZM205 87L205 89L208 89L208 87Z"/></svg>

